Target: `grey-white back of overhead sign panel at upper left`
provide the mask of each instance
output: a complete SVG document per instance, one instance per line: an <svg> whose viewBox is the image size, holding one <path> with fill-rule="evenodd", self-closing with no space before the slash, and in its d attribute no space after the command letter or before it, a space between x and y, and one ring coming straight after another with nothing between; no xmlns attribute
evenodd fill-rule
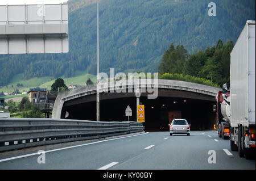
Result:
<svg viewBox="0 0 256 181"><path fill-rule="evenodd" d="M0 54L68 51L67 2L48 1L40 5L1 3Z"/></svg>

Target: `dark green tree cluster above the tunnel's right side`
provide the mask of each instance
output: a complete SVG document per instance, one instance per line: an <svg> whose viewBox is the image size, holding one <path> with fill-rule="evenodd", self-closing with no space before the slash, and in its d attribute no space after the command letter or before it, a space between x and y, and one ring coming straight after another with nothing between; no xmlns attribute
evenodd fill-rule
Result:
<svg viewBox="0 0 256 181"><path fill-rule="evenodd" d="M175 48L174 44L171 44L159 64L158 71L163 75L160 77L179 76L184 79L186 75L190 75L193 79L203 78L217 86L224 83L229 85L230 53L233 47L232 41L223 44L218 40L217 45L188 54L183 45L177 45ZM202 83L205 84L204 81Z"/></svg>

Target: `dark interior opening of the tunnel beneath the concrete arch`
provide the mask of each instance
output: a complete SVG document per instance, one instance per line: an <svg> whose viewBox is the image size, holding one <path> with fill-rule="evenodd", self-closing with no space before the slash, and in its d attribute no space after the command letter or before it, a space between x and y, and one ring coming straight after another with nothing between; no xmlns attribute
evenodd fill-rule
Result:
<svg viewBox="0 0 256 181"><path fill-rule="evenodd" d="M92 95L95 96L95 95ZM214 101L199 99L184 99L159 97L147 99L142 96L140 102L145 106L145 131L168 131L168 124L174 118L187 119L191 131L212 130L216 124L216 114L212 107ZM100 102L101 121L126 121L125 109L131 107L133 116L130 121L137 121L136 98L106 99ZM64 103L62 119L96 120L96 102L67 104Z"/></svg>

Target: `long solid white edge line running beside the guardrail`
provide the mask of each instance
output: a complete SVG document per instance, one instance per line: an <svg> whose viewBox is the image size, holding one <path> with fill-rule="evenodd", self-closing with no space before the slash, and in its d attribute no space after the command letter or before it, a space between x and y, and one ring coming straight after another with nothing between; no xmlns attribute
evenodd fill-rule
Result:
<svg viewBox="0 0 256 181"><path fill-rule="evenodd" d="M148 134L148 132L143 133L143 134ZM136 135L133 135L133 136L140 136L140 135L143 135L143 134L136 134ZM85 146L85 145L98 144L98 143L100 143L100 142L118 140L118 139L122 139L122 138L133 137L133 136L125 136L125 137L121 137L121 138L113 138L113 139L109 139L109 140L102 140L102 141L90 142L90 143L88 143L88 144L82 144L82 145L76 145L76 146L68 146L68 147L65 147L65 148L59 148L59 149L54 149L54 150L48 150L48 151L45 151L45 153L50 153L50 152L53 152L53 151L59 151L59 150L65 150L65 149L71 149L71 148L76 148L76 147ZM6 162L6 161L10 161L10 160L12 160L12 159L18 159L18 158L24 158L24 157L31 157L31 156L33 156L33 155L38 155L38 152L36 152L36 153L31 153L31 154L20 155L20 156L17 156L17 157L11 157L11 158L0 159L0 162Z"/></svg>

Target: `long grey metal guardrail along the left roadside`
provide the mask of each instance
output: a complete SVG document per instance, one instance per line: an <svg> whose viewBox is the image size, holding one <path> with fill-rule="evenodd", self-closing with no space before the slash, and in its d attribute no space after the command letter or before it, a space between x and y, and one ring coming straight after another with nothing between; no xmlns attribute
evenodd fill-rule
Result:
<svg viewBox="0 0 256 181"><path fill-rule="evenodd" d="M92 140L142 132L142 123L133 121L96 122L66 119L0 119L0 151Z"/></svg>

